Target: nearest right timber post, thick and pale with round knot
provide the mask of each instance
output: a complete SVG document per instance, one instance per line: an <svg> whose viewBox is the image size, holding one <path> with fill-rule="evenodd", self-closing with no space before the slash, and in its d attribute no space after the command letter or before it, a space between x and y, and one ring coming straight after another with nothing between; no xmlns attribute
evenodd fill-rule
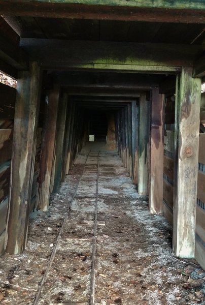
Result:
<svg viewBox="0 0 205 305"><path fill-rule="evenodd" d="M173 249L194 258L201 80L183 68L176 89Z"/></svg>

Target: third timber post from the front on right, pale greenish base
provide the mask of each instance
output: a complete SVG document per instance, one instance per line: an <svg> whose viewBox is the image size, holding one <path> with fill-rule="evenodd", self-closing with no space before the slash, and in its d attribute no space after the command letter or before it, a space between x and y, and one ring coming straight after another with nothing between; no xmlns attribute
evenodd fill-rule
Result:
<svg viewBox="0 0 205 305"><path fill-rule="evenodd" d="M150 144L150 102L140 96L138 193L148 195Z"/></svg>

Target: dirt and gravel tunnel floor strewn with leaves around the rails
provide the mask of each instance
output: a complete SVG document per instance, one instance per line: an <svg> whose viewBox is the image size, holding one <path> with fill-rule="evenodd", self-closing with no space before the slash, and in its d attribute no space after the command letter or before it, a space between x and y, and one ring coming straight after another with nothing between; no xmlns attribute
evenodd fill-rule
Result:
<svg viewBox="0 0 205 305"><path fill-rule="evenodd" d="M1 304L35 302L67 211L37 303L89 304L97 151L83 171L86 155L84 149L59 194L52 195L49 211L31 214L23 255L1 257ZM174 256L172 228L163 216L149 214L147 197L138 195L113 151L99 155L97 207L95 305L205 304L205 271Z"/></svg>

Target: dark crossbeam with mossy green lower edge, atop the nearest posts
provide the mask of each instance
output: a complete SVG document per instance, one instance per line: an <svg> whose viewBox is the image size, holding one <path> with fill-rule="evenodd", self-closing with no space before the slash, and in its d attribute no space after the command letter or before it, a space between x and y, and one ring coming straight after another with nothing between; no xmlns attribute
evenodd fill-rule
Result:
<svg viewBox="0 0 205 305"><path fill-rule="evenodd" d="M192 66L202 52L190 45L29 38L20 46L44 68L163 74Z"/></svg>

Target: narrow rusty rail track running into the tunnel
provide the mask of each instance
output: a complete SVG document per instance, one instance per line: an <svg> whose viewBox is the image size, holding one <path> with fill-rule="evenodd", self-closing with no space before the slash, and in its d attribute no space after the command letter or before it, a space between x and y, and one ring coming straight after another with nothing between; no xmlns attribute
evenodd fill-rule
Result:
<svg viewBox="0 0 205 305"><path fill-rule="evenodd" d="M35 301L34 301L33 305L37 305L38 302L39 302L39 299L40 299L40 296L41 296L42 289L43 289L43 287L44 287L45 281L46 281L47 278L48 278L49 271L50 271L50 269L51 269L52 263L53 263L53 261L54 261L55 255L56 255L56 251L57 251L57 248L58 248L60 239L61 239L62 230L63 230L63 228L64 228L64 225L65 225L67 219L69 218L70 210L71 210L73 201L74 201L74 199L75 199L75 197L76 197L76 195L77 195L78 187L79 187L81 178L82 178L82 176L83 176L85 167L86 167L86 165L89 165L89 164L87 164L87 161L88 161L88 158L89 158L89 157L97 158L96 194L95 194L95 209L94 209L94 214L95 214L95 215L94 215L93 238L92 238L92 264L91 264L91 278L90 278L90 298L89 298L89 303L79 303L79 302L68 303L68 302L64 302L64 303L60 303L60 304L66 304L66 305L75 305L75 304L76 304L76 305L94 305L94 298L95 298L96 233L97 233L97 211L98 211L97 204L98 204L98 179L99 179L99 155L100 155L100 151L98 151L98 153L97 153L97 154L94 154L94 155L91 155L90 153L91 153L91 150L89 151L89 153L88 153L88 155L87 155L87 157L86 157L86 161L85 161L85 163L84 163L84 165L83 165L82 174L80 175L79 180L78 180L78 182L77 182L77 185L76 185L74 194L73 194L73 196L72 196L72 199L71 199L71 202L70 202L70 205L69 205L69 209L68 209L68 211L66 212L66 215L65 215L65 218L64 218L62 227L61 227L60 232L59 232L59 234L58 234L58 237L57 237L57 239L56 239L55 246L54 246L54 248L53 248L53 251L52 251L50 260L49 260L49 262L48 262L46 271L45 271L45 273L44 273L43 279L42 279L42 281L41 281L41 284L40 284L40 287L39 287L39 290L38 290L38 293L37 293L37 295L36 295L36 298L35 298Z"/></svg>

